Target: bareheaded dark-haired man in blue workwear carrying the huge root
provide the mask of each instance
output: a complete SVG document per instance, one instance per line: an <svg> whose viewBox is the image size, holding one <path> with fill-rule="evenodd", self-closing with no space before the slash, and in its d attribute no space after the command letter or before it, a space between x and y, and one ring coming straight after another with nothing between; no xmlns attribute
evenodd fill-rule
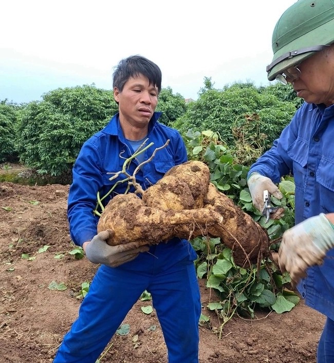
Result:
<svg viewBox="0 0 334 363"><path fill-rule="evenodd" d="M124 160L147 139L154 143L133 159L127 172L159 150L136 174L143 189L155 184L166 171L187 160L180 134L158 123L156 113L161 90L159 67L142 56L121 60L113 77L117 113L107 126L83 145L73 167L68 196L70 234L98 269L85 296L79 317L54 358L55 363L95 363L144 290L152 294L153 306L164 335L170 363L198 362L200 295L194 260L197 255L187 240L174 238L166 244L112 247L108 231L97 234L93 214L97 192L103 196L122 178L110 181L110 172L122 170ZM125 176L123 177L125 178ZM120 183L113 195L124 193ZM130 191L134 191L131 189ZM110 199L103 200L104 204ZM147 241L149 243L149 241ZM186 333L185 333L186 332Z"/></svg>

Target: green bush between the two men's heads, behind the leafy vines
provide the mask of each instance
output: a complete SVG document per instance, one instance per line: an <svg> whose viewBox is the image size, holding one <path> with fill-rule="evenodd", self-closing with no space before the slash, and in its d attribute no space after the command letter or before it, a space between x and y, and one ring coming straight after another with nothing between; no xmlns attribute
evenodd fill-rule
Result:
<svg viewBox="0 0 334 363"><path fill-rule="evenodd" d="M203 89L196 102L173 126L183 134L212 130L231 148L252 144L256 137L261 152L268 149L290 122L294 104L262 92L252 84L234 84L222 90ZM254 125L250 124L254 121ZM252 146L250 146L250 150Z"/></svg>

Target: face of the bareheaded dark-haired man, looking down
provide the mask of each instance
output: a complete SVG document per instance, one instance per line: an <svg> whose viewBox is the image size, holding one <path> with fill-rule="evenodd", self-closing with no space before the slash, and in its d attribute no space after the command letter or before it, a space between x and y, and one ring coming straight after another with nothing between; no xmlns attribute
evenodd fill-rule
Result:
<svg viewBox="0 0 334 363"><path fill-rule="evenodd" d="M115 87L114 98L119 104L123 131L124 128L147 129L158 104L158 88L150 85L149 78L142 74L129 78L122 92Z"/></svg>

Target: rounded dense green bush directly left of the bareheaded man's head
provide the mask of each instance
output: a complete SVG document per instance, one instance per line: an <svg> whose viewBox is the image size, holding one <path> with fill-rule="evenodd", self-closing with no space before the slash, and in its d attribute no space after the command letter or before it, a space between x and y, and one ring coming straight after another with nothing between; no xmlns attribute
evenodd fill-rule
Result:
<svg viewBox="0 0 334 363"><path fill-rule="evenodd" d="M18 126L20 161L39 174L68 174L87 138L117 112L110 91L84 85L56 89L31 102Z"/></svg>

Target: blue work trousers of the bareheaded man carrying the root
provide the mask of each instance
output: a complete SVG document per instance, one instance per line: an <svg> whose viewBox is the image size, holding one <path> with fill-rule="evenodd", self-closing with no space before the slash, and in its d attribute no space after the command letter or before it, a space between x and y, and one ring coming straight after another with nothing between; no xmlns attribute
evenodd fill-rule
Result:
<svg viewBox="0 0 334 363"><path fill-rule="evenodd" d="M144 290L152 294L169 363L198 363L196 252L185 240L149 252L117 268L98 269L53 363L95 363Z"/></svg>

